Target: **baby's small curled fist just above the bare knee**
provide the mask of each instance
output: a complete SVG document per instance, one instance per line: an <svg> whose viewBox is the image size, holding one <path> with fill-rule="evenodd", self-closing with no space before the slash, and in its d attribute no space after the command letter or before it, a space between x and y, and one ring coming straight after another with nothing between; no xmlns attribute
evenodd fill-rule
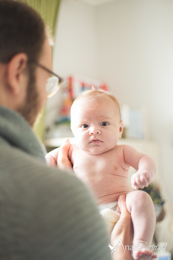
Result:
<svg viewBox="0 0 173 260"><path fill-rule="evenodd" d="M152 175L148 170L138 170L131 176L131 187L133 190L143 189L151 182Z"/></svg>

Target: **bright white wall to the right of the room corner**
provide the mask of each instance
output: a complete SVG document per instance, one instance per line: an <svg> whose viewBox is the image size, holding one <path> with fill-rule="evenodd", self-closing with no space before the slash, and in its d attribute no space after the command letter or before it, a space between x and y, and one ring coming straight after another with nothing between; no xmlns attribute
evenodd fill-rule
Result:
<svg viewBox="0 0 173 260"><path fill-rule="evenodd" d="M99 78L120 104L148 108L173 202L173 1L121 0L95 8Z"/></svg>

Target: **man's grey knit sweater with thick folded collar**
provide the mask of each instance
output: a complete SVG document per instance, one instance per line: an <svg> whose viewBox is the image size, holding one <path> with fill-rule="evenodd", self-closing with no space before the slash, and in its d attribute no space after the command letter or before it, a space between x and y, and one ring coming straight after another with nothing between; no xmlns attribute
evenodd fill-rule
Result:
<svg viewBox="0 0 173 260"><path fill-rule="evenodd" d="M87 188L72 174L47 167L25 119L1 106L0 259L111 259Z"/></svg>

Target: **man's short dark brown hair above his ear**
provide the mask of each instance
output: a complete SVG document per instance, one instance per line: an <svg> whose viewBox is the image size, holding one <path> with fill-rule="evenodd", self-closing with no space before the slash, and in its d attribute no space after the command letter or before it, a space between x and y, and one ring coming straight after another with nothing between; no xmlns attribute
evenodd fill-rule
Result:
<svg viewBox="0 0 173 260"><path fill-rule="evenodd" d="M44 40L44 21L33 8L22 1L0 0L0 62L9 62L17 53L37 62Z"/></svg>

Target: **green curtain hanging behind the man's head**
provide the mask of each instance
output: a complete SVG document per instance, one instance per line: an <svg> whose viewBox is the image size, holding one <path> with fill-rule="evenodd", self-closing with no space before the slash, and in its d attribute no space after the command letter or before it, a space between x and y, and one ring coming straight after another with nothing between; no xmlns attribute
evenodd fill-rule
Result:
<svg viewBox="0 0 173 260"><path fill-rule="evenodd" d="M44 22L50 27L52 35L54 35L57 13L60 0L23 0L32 6L43 18ZM42 116L36 121L34 132L44 141L45 133L45 107L41 112Z"/></svg>

